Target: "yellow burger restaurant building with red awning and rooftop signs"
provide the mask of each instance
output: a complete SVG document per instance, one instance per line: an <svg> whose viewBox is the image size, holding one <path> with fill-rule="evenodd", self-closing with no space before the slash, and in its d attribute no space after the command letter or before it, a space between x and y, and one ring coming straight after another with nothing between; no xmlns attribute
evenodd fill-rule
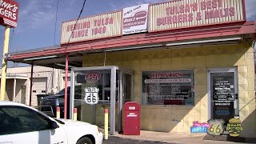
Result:
<svg viewBox="0 0 256 144"><path fill-rule="evenodd" d="M61 47L9 60L60 68L50 58L82 58L71 69L71 86L82 85L81 99L86 90L98 94L96 106L71 102L82 121L101 126L110 108L111 127L122 131L122 104L134 101L142 107L142 130L190 133L194 122L222 118L225 127L239 117L240 136L255 138L256 26L246 22L243 0L146 4L75 23L63 22Z"/></svg>

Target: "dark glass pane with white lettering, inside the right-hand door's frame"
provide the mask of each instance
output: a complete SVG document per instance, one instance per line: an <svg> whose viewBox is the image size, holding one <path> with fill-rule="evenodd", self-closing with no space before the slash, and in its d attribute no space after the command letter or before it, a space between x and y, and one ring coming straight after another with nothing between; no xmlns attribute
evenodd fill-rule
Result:
<svg viewBox="0 0 256 144"><path fill-rule="evenodd" d="M234 118L234 72L210 74L213 118L228 122Z"/></svg>

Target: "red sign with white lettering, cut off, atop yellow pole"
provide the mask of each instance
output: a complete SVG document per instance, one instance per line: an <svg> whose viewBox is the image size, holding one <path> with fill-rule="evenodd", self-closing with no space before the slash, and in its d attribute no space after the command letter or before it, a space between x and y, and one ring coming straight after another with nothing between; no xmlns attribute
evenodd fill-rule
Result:
<svg viewBox="0 0 256 144"><path fill-rule="evenodd" d="M18 2L0 0L0 24L3 26L17 27Z"/></svg>

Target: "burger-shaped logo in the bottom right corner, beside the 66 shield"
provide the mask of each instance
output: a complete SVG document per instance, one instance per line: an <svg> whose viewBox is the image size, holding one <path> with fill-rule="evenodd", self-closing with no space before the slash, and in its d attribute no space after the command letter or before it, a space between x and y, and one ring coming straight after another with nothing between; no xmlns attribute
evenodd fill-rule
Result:
<svg viewBox="0 0 256 144"><path fill-rule="evenodd" d="M238 137L242 130L241 121L239 118L231 118L226 126L226 131L230 133L231 137Z"/></svg>

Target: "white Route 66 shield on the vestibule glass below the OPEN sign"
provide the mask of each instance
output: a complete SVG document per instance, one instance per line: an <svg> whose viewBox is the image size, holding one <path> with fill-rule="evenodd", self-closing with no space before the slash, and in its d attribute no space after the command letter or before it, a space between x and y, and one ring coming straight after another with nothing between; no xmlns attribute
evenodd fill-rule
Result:
<svg viewBox="0 0 256 144"><path fill-rule="evenodd" d="M85 101L87 104L95 105L98 103L98 87L85 88Z"/></svg>

